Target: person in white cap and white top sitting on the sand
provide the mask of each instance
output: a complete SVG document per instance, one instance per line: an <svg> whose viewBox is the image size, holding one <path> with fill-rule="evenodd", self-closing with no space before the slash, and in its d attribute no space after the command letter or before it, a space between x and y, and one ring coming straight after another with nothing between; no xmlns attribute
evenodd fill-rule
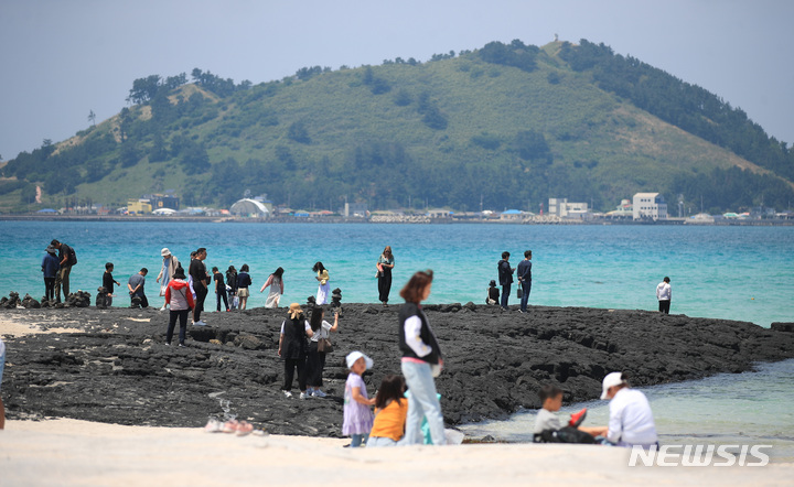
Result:
<svg viewBox="0 0 794 487"><path fill-rule="evenodd" d="M629 388L625 372L611 372L601 385L601 399L610 400L608 426L597 430L611 444L648 448L658 445L656 424L645 394Z"/></svg>

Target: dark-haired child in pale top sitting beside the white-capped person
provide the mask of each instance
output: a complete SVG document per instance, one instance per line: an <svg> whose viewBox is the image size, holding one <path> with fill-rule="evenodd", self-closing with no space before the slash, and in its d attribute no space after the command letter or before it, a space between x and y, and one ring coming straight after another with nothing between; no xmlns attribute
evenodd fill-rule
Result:
<svg viewBox="0 0 794 487"><path fill-rule="evenodd" d="M562 407L562 389L547 383L540 388L538 397L543 408L535 418L535 443L596 443L593 436L600 433L600 428L564 426L555 414Z"/></svg>

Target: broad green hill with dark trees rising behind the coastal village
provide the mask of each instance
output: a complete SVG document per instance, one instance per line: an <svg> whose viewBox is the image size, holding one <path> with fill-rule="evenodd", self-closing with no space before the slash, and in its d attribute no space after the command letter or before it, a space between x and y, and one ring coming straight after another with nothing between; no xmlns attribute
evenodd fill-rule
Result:
<svg viewBox="0 0 794 487"><path fill-rule="evenodd" d="M601 45L519 41L253 86L194 69L137 79L130 108L0 167L4 210L124 205L174 190L228 206L611 209L654 191L712 209L784 207L794 154L741 110ZM57 169L57 172L56 172Z"/></svg>

